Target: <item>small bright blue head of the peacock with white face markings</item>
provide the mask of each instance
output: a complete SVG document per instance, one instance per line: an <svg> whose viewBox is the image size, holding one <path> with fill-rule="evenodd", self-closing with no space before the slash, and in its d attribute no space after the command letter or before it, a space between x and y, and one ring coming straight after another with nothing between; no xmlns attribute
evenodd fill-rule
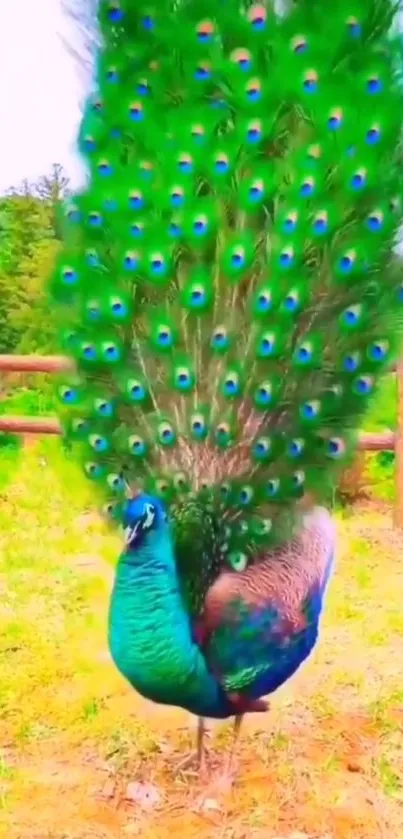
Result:
<svg viewBox="0 0 403 839"><path fill-rule="evenodd" d="M139 548L145 540L161 531L167 514L158 498L141 493L127 502L123 514L125 550Z"/></svg>

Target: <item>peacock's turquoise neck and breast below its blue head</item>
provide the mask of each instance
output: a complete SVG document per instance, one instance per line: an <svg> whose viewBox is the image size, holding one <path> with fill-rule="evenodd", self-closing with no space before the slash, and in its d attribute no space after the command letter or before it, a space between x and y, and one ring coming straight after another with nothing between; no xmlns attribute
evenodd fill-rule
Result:
<svg viewBox="0 0 403 839"><path fill-rule="evenodd" d="M200 716L233 713L193 641L168 527L148 534L119 559L109 646L117 668L146 698Z"/></svg>

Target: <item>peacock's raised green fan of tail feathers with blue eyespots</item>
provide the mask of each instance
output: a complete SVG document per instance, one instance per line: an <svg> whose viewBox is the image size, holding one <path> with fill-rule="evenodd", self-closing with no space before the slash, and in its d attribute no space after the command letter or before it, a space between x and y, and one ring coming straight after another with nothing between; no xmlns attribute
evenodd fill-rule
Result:
<svg viewBox="0 0 403 839"><path fill-rule="evenodd" d="M90 179L52 294L79 370L65 433L116 521L128 486L179 523L196 498L240 567L354 450L399 346L394 14L100 0Z"/></svg>

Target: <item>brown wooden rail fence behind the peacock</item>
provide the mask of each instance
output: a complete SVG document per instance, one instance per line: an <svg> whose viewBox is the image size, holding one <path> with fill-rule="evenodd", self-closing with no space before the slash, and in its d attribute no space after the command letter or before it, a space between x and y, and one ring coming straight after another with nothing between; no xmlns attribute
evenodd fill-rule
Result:
<svg viewBox="0 0 403 839"><path fill-rule="evenodd" d="M57 355L0 355L1 373L62 373L74 369L72 362ZM398 382L397 431L360 434L362 451L394 451L396 454L395 525L403 529L403 360L396 365ZM0 416L0 432L12 434L60 434L60 424L55 417Z"/></svg>

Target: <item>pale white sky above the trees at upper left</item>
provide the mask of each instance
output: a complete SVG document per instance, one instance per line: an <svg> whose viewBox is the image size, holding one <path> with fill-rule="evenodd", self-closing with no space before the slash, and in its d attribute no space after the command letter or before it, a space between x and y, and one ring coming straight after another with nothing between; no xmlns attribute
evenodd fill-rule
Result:
<svg viewBox="0 0 403 839"><path fill-rule="evenodd" d="M81 179L75 138L84 82L62 43L77 41L62 0L0 0L0 194L61 163Z"/></svg>

